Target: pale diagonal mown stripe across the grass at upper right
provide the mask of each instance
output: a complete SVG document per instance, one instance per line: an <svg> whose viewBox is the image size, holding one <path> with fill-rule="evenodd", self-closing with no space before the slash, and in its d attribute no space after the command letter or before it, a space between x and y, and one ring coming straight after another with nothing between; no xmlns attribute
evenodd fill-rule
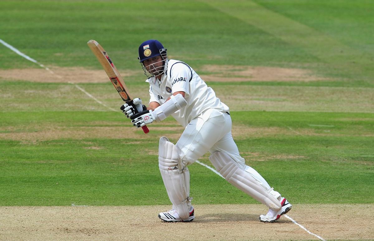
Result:
<svg viewBox="0 0 374 241"><path fill-rule="evenodd" d="M202 0L214 9L240 19L293 46L299 46L322 62L332 64L341 71L361 74L370 61L362 53L338 40L284 15L273 12L254 1ZM321 44L323 43L323 44Z"/></svg>

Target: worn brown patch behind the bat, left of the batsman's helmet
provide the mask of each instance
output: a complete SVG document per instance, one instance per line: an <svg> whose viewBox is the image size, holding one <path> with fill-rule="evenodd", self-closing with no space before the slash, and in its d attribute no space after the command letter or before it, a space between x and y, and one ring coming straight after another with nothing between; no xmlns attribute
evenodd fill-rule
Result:
<svg viewBox="0 0 374 241"><path fill-rule="evenodd" d="M89 70L83 67L53 67L52 72L43 68L0 70L1 79L28 80L45 83L107 83L104 70ZM133 70L119 70L123 77L140 73Z"/></svg>

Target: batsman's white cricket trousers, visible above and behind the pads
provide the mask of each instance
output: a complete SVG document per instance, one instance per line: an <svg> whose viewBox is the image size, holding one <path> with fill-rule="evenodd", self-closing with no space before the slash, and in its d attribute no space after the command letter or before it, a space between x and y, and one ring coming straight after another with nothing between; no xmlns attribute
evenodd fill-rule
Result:
<svg viewBox="0 0 374 241"><path fill-rule="evenodd" d="M270 190L267 181L253 168L245 165L231 134L231 117L226 112L208 109L191 120L184 129L176 146L180 149L183 165L190 165L206 152L217 151L228 154L234 162L258 181L266 190Z"/></svg>

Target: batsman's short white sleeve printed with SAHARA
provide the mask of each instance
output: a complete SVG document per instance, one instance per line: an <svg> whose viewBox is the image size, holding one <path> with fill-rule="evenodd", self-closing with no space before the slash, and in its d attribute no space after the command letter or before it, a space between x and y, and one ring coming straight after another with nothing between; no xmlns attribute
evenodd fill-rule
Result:
<svg viewBox="0 0 374 241"><path fill-rule="evenodd" d="M189 87L192 77L191 68L183 62L177 62L171 66L170 71L172 93L183 91L186 93L185 97L188 97L190 95Z"/></svg>

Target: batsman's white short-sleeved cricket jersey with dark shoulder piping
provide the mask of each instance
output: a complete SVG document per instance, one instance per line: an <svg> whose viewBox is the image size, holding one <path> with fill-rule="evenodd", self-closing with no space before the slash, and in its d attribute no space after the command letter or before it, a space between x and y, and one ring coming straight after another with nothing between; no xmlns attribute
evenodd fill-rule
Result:
<svg viewBox="0 0 374 241"><path fill-rule="evenodd" d="M169 60L168 69L162 75L161 81L156 77L150 77L146 82L150 85L150 103L154 101L162 105L172 93L177 91L186 93L184 98L187 106L172 114L175 120L185 127L205 110L217 109L221 112L229 112L229 107L215 96L213 89L182 61Z"/></svg>

